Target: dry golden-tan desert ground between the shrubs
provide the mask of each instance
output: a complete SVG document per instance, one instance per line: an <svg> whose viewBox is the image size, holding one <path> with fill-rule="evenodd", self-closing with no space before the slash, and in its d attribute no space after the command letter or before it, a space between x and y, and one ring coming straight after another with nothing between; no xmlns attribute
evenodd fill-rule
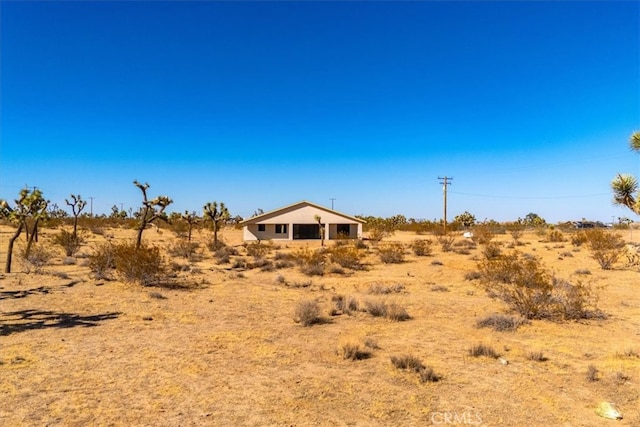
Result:
<svg viewBox="0 0 640 427"><path fill-rule="evenodd" d="M0 232L4 264L12 229ZM44 229L41 243L57 232ZM14 272L0 275L0 425L640 425L640 273L622 262L601 270L584 247L541 242L532 232L518 249L559 277L593 283L606 319L538 320L497 332L476 322L506 306L465 279L477 269L480 246L460 254L435 245L428 257L407 249L404 263L382 264L369 245L366 270L311 278L297 267L233 269L203 247L202 259L180 273L187 290L92 278L92 247L105 236L134 234L90 235L75 260L60 252L40 274L27 274L16 256ZM240 231L222 235L242 243ZM148 230L144 239L166 247L176 237ZM506 246L510 237L497 240ZM279 243L278 251L305 245L315 249L319 241ZM404 289L371 295L374 283ZM331 316L337 294L395 302L411 319ZM293 313L310 299L325 320L303 327ZM345 342L365 349L365 341L377 348L363 360L337 354ZM509 363L471 357L480 343ZM529 359L536 351L544 361ZM396 369L390 357L404 354L431 366L440 381L422 383ZM590 366L596 381L587 378ZM598 417L602 401L614 402L624 419Z"/></svg>

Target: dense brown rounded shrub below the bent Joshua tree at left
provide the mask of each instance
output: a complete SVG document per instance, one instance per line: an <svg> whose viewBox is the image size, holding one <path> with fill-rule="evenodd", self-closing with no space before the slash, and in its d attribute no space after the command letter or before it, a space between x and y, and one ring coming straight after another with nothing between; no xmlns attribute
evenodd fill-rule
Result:
<svg viewBox="0 0 640 427"><path fill-rule="evenodd" d="M160 248L142 244L136 249L135 243L119 243L113 246L116 272L126 282L143 286L160 283L164 275Z"/></svg>

